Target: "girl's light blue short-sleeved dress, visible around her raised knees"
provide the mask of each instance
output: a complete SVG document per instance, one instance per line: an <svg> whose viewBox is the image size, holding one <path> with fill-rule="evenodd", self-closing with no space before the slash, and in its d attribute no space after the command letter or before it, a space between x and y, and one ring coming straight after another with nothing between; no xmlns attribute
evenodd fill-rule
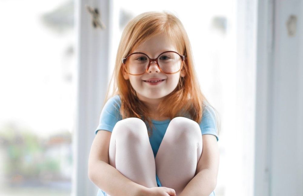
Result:
<svg viewBox="0 0 303 196"><path fill-rule="evenodd" d="M119 95L115 95L114 97L108 99L108 101L106 102L106 104L102 109L99 125L95 130L95 134L97 134L98 130L107 130L112 132L115 124L119 120L122 120L122 116L120 114L120 106L121 106L121 99ZM154 153L154 158L156 157L159 146L161 144L161 141L164 137L164 134L166 132L166 129L170 121L171 121L170 119L151 120L152 124L154 125L154 128L151 137L149 137L149 142L151 144L151 148ZM199 126L202 135L211 134L217 138L217 141L219 140L214 111L207 104L203 108L203 116L201 122L199 123ZM156 181L158 187L161 187L161 182L157 174L156 174ZM107 196L107 194L101 189L99 189L97 196ZM215 196L215 192L213 191L210 194L210 196Z"/></svg>

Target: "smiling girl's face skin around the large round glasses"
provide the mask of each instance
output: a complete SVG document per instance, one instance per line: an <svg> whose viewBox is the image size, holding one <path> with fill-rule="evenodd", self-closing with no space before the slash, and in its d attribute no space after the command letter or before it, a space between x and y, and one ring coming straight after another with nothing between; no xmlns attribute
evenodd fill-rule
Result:
<svg viewBox="0 0 303 196"><path fill-rule="evenodd" d="M134 48L131 53L143 52L150 58L155 59L160 53L165 51L177 51L175 43L172 43L165 34L158 34L149 38L144 43ZM181 54L183 55L183 54ZM129 79L132 87L138 94L138 98L151 104L158 104L162 98L170 94L178 85L179 78L185 76L185 70L175 74L165 74L161 72L155 61L151 62L147 72L140 76L129 75L123 70L124 79ZM157 84L146 82L148 80L163 80Z"/></svg>

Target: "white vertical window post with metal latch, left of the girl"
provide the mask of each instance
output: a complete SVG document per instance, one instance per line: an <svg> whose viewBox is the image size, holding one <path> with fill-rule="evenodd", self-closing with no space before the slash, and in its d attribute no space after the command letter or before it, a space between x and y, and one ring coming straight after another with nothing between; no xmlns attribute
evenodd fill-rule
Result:
<svg viewBox="0 0 303 196"><path fill-rule="evenodd" d="M98 8L106 29L92 26L92 15L85 5ZM98 125L108 85L108 56L111 40L111 1L75 1L77 32L77 104L73 133L74 176L72 195L97 195L98 188L88 178L88 156Z"/></svg>

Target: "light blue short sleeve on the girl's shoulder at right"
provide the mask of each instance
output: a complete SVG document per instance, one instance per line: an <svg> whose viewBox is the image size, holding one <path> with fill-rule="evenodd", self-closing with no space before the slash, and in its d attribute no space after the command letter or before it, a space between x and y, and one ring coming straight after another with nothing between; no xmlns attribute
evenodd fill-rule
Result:
<svg viewBox="0 0 303 196"><path fill-rule="evenodd" d="M203 108L202 121L199 126L202 135L211 134L216 136L217 141L219 140L215 111L211 108L211 106L205 105L205 107Z"/></svg>

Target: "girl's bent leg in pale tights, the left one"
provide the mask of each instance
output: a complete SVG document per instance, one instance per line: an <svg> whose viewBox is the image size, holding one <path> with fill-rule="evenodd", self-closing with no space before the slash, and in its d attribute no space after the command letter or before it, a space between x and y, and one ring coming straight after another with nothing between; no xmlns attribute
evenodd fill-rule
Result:
<svg viewBox="0 0 303 196"><path fill-rule="evenodd" d="M109 144L109 164L145 187L157 187L155 158L145 123L126 118L116 123Z"/></svg>

